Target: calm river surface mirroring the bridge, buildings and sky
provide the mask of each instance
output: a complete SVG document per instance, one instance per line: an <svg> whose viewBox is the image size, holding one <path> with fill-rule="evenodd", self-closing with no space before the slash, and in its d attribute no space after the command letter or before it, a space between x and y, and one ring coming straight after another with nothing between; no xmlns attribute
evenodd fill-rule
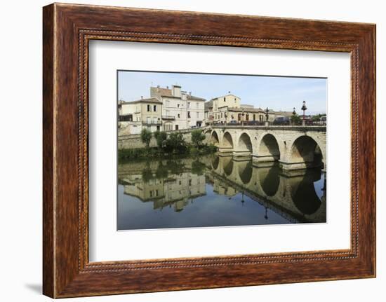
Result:
<svg viewBox="0 0 386 302"><path fill-rule="evenodd" d="M120 164L118 179L119 230L326 222L320 168L212 155Z"/></svg>

